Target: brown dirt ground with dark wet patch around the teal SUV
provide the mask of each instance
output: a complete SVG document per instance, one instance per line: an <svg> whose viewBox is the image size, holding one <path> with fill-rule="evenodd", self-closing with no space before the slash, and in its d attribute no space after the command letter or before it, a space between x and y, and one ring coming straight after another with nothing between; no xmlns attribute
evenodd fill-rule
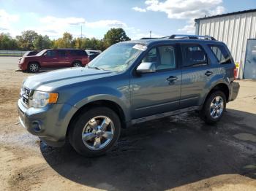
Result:
<svg viewBox="0 0 256 191"><path fill-rule="evenodd" d="M256 190L256 81L239 81L217 125L194 112L142 123L86 158L21 127L16 102L30 74L14 64L0 69L0 190Z"/></svg>

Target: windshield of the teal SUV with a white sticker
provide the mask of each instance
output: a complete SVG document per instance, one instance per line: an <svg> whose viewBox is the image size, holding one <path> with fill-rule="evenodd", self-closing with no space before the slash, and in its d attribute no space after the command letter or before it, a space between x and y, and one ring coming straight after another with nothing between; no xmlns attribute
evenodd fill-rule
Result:
<svg viewBox="0 0 256 191"><path fill-rule="evenodd" d="M88 67L108 71L124 71L144 50L146 50L146 46L136 43L114 44L94 58Z"/></svg>

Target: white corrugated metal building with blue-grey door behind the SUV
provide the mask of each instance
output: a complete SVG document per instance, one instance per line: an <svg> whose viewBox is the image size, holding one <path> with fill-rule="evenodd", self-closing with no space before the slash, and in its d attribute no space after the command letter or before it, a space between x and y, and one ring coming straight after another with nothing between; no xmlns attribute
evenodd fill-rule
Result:
<svg viewBox="0 0 256 191"><path fill-rule="evenodd" d="M256 79L256 9L195 19L197 35L225 42L239 63L239 78Z"/></svg>

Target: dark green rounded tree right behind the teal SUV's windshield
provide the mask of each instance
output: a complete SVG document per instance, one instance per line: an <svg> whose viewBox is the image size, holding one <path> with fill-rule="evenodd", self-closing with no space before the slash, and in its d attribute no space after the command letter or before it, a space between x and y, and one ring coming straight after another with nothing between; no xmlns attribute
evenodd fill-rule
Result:
<svg viewBox="0 0 256 191"><path fill-rule="evenodd" d="M110 28L110 30L104 35L104 42L107 47L118 42L130 40L123 28Z"/></svg>

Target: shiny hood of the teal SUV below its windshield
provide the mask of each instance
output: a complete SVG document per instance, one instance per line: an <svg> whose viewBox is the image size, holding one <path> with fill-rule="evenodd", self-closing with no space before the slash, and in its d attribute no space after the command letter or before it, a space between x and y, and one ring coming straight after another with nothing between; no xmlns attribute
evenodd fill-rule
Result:
<svg viewBox="0 0 256 191"><path fill-rule="evenodd" d="M116 73L87 68L60 69L28 77L23 82L23 87L27 87L30 90L52 91L65 85L108 77L113 74Z"/></svg>

